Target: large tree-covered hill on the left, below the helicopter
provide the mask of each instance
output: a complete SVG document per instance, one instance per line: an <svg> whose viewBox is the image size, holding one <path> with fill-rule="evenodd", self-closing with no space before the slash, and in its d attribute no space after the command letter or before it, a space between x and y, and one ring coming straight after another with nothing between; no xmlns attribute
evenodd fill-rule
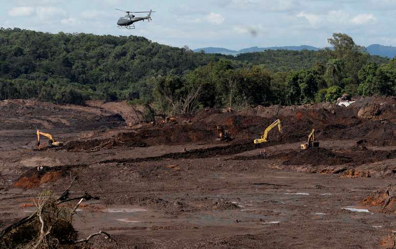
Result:
<svg viewBox="0 0 396 249"><path fill-rule="evenodd" d="M35 88L33 93L21 96L24 98L36 96L39 85L78 83L94 91L122 90L131 82L168 73L183 74L219 57L224 56L195 54L137 36L0 30L0 78L20 79L20 84Z"/></svg>

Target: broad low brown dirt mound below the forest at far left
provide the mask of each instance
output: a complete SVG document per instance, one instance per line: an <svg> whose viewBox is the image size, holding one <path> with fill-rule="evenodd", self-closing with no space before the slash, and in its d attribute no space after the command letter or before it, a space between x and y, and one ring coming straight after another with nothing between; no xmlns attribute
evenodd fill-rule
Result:
<svg viewBox="0 0 396 249"><path fill-rule="evenodd" d="M104 109L33 100L0 101L0 123L2 130L91 130L125 125L121 115Z"/></svg>

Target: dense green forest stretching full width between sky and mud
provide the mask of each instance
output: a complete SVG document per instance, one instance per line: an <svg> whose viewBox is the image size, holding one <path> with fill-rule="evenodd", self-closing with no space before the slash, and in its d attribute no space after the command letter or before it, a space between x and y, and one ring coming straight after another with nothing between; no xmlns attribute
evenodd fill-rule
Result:
<svg viewBox="0 0 396 249"><path fill-rule="evenodd" d="M370 56L346 34L320 51L236 57L194 53L137 36L0 29L0 100L129 100L162 114L204 107L304 104L396 95L396 60Z"/></svg>

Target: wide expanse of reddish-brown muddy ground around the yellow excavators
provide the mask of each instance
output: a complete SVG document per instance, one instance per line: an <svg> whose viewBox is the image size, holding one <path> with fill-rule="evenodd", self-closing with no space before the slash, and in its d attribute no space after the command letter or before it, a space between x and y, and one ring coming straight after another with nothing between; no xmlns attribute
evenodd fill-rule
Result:
<svg viewBox="0 0 396 249"><path fill-rule="evenodd" d="M124 119L125 103L3 102L0 229L78 173L73 193L87 189L100 200L83 202L74 227L80 237L102 230L116 239L94 239L92 248L392 248L395 103L208 109L191 123L154 126ZM282 132L255 146L277 118ZM216 142L217 125L233 141ZM64 148L35 150L36 128ZM312 128L320 148L300 151Z"/></svg>

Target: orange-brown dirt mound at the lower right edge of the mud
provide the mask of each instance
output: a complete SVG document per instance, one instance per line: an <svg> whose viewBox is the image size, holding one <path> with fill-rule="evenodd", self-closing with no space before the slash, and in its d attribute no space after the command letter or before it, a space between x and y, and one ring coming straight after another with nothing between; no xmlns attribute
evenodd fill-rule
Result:
<svg viewBox="0 0 396 249"><path fill-rule="evenodd" d="M372 193L362 202L364 205L382 208L383 213L396 213L396 185L389 184Z"/></svg>

